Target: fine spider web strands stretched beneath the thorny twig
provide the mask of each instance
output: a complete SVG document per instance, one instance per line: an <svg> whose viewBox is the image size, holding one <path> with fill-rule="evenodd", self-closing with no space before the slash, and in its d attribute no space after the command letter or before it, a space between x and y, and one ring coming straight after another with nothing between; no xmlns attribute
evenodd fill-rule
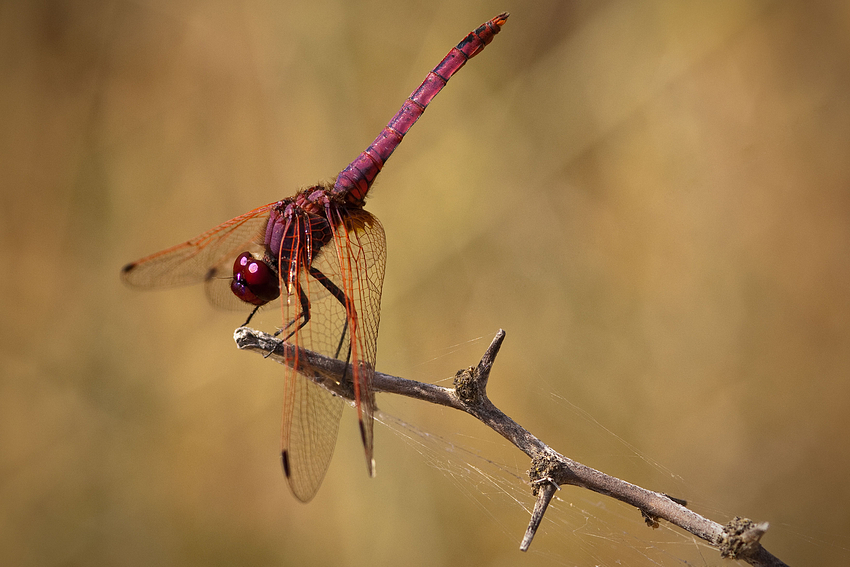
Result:
<svg viewBox="0 0 850 567"><path fill-rule="evenodd" d="M523 523L534 506L526 457L505 441L503 448L517 453L517 462L508 464L468 445L489 441L438 435L385 412L376 420L447 477L521 553ZM635 508L569 486L553 498L528 555L525 562L533 557L533 564L542 565L707 565L720 560L716 550L679 528L662 521L650 529Z"/></svg>

